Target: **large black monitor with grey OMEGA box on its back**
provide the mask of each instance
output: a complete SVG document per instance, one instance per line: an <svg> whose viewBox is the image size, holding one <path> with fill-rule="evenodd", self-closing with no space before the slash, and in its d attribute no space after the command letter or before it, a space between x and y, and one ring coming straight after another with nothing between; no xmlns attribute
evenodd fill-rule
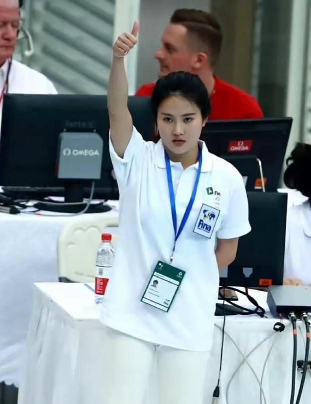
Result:
<svg viewBox="0 0 311 404"><path fill-rule="evenodd" d="M129 97L128 106L136 128L146 139L151 139L154 126L149 98ZM99 95L5 95L0 136L0 185L19 190L36 187L38 193L42 192L40 187L46 187L46 193L50 195L65 192L66 200L70 202L80 201L89 194L91 181L57 178L58 140L64 130L94 130L102 137L101 173L100 179L95 180L94 196L118 198L108 150L106 96ZM25 191L31 194L31 190Z"/></svg>

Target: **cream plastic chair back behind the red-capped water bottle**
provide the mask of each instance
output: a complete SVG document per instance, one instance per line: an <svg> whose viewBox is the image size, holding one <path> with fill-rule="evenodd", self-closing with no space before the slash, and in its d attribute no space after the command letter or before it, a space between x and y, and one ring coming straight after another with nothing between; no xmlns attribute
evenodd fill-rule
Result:
<svg viewBox="0 0 311 404"><path fill-rule="evenodd" d="M65 225L57 240L57 272L60 282L93 282L96 254L102 233L111 233L115 248L117 231L106 231L118 227L118 215L88 216Z"/></svg>

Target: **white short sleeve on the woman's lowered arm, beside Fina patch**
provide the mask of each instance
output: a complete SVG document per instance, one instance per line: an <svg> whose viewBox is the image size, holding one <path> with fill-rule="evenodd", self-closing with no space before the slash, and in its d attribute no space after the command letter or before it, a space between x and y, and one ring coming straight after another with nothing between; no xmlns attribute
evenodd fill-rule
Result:
<svg viewBox="0 0 311 404"><path fill-rule="evenodd" d="M248 200L242 176L236 173L235 185L229 192L228 209L217 231L218 239L234 239L250 232Z"/></svg>

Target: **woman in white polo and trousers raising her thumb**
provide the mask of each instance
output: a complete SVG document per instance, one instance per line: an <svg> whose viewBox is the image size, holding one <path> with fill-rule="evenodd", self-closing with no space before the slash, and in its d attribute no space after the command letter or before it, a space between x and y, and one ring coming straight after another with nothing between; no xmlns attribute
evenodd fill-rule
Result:
<svg viewBox="0 0 311 404"><path fill-rule="evenodd" d="M159 404L201 404L218 268L250 231L243 180L199 141L210 110L196 75L160 78L151 108L160 140L145 142L127 108L123 57L138 23L113 46L110 155L120 194L119 241L102 307L104 404L141 404L157 361ZM154 282L154 281L157 282Z"/></svg>

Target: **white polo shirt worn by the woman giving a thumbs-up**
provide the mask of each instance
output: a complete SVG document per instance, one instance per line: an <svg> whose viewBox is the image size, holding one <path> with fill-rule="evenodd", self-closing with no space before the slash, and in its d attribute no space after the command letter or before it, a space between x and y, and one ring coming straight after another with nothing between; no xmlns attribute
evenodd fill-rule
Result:
<svg viewBox="0 0 311 404"><path fill-rule="evenodd" d="M172 263L186 273L166 313L140 301L157 261L168 263L174 244L163 144L161 140L156 144L145 142L133 128L123 158L117 156L111 141L109 147L120 192L119 240L101 321L155 344L207 351L212 344L219 283L215 240L250 231L242 177L201 142L202 167L196 197L176 242ZM185 170L179 162L170 165L178 229L198 163ZM193 233L202 204L220 210L210 239Z"/></svg>

